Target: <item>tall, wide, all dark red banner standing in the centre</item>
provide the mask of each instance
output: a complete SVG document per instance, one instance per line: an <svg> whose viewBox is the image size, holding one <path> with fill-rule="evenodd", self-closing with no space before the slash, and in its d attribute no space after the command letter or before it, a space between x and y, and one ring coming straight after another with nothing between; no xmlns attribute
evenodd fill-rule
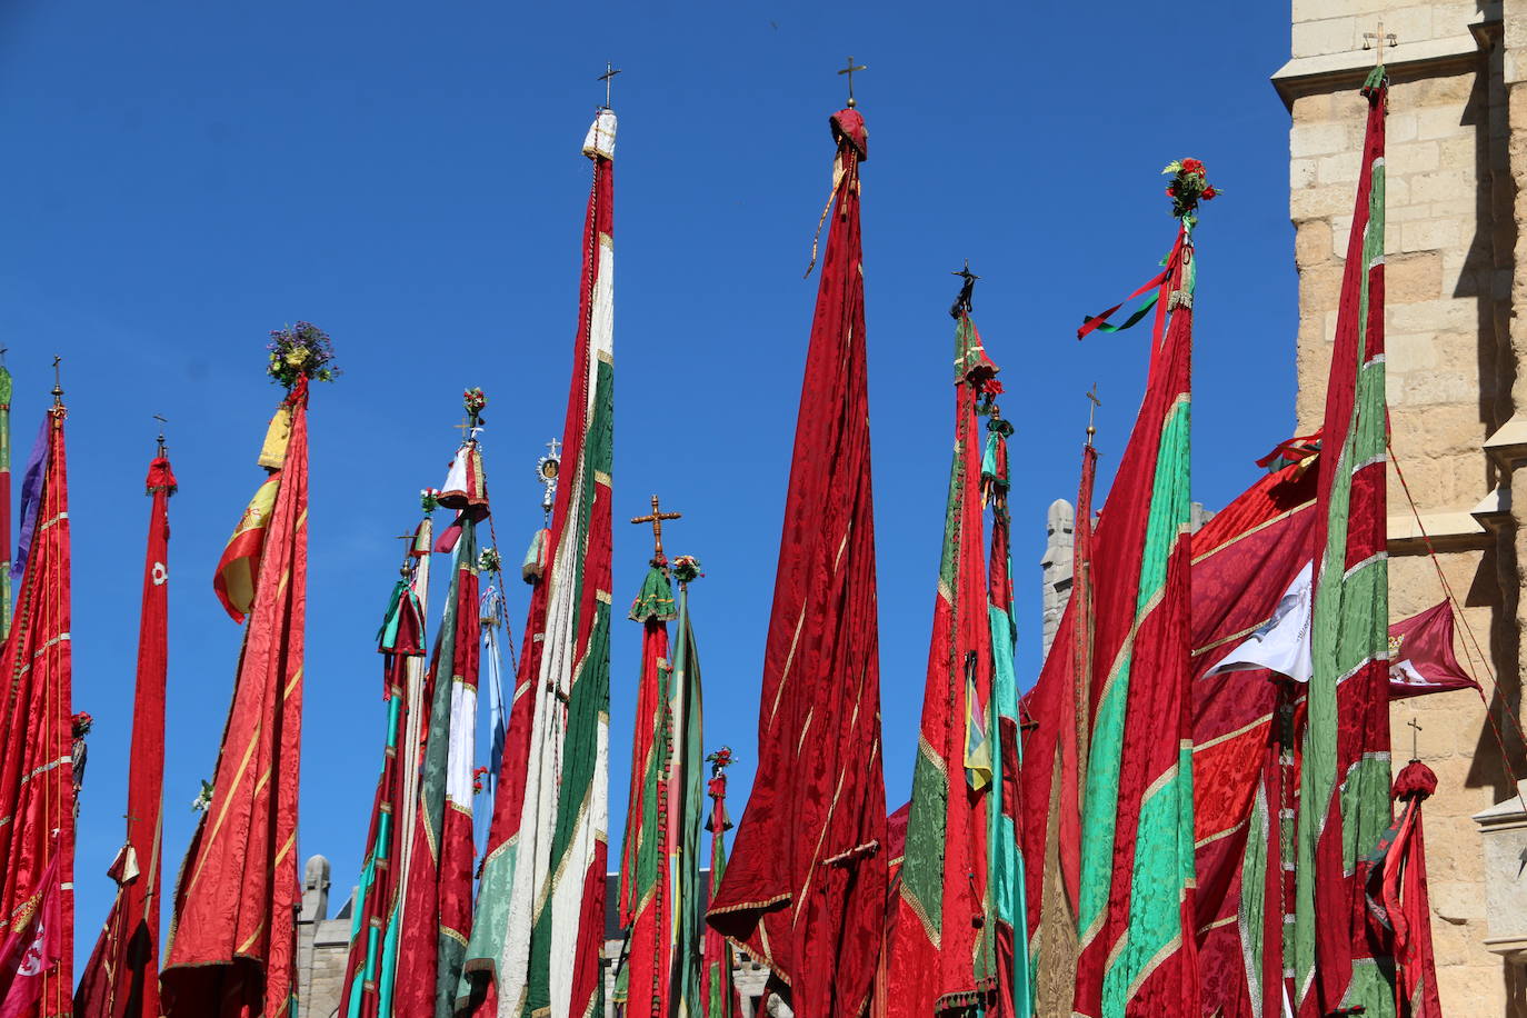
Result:
<svg viewBox="0 0 1527 1018"><path fill-rule="evenodd" d="M886 923L875 522L860 163L864 119L832 118L834 206L806 353L759 768L712 926L747 945L811 1018L864 1009Z"/></svg>

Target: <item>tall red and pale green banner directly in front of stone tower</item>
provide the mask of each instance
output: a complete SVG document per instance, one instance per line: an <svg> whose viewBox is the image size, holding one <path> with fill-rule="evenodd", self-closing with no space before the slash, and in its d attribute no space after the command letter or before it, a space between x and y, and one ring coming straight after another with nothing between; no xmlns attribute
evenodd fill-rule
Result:
<svg viewBox="0 0 1527 1018"><path fill-rule="evenodd" d="M1342 276L1315 505L1309 720L1299 769L1293 1001L1301 1018L1394 1013L1385 948L1364 902L1367 853L1388 829L1388 559L1383 385L1383 67Z"/></svg>

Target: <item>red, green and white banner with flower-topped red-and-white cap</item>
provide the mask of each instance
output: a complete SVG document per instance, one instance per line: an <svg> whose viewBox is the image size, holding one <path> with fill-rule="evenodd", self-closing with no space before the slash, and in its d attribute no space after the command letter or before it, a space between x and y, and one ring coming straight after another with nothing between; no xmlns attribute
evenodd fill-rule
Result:
<svg viewBox="0 0 1527 1018"><path fill-rule="evenodd" d="M400 1015L452 1018L472 933L472 765L483 620L478 612L476 527L487 514L476 432L486 400L467 391L467 437L440 504L457 510L441 537L455 542L446 610L426 682L429 723L418 778L418 820L403 887L395 1009ZM460 484L452 484L460 481ZM437 549L440 542L437 542Z"/></svg>

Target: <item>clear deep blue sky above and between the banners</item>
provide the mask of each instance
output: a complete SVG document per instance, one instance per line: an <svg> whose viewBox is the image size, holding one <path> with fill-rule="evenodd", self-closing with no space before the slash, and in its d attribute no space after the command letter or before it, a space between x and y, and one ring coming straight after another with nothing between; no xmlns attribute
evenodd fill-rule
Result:
<svg viewBox="0 0 1527 1018"><path fill-rule="evenodd" d="M1190 18L1197 20L1190 20ZM1109 472L1139 406L1144 331L1073 339L1171 243L1162 165L1208 163L1199 230L1194 490L1222 505L1293 420L1287 114L1267 76L1286 5L206 5L9 0L0 9L0 339L18 458L64 356L75 704L96 717L79 820L81 960L122 838L153 414L171 502L166 881L212 772L240 632L212 566L261 478L278 391L266 333L310 319L345 377L312 412L312 574L299 850L354 882L380 763L377 618L417 491L490 398L505 559L539 522L557 433L589 166L615 79L615 516L652 491L698 554L707 745L756 760L757 688L847 53L870 130L864 261L889 797L909 791L950 447L962 258L1005 366L1020 676L1038 665L1044 510L1073 498L1083 392ZM1353 98L1353 116L1361 104ZM615 601L651 551L617 523ZM443 571L441 571L443 572ZM515 583L515 643L525 591ZM435 600L438 607L438 597ZM432 612L434 614L434 612ZM617 621L611 827L629 771L638 627ZM481 809L481 806L479 806Z"/></svg>

